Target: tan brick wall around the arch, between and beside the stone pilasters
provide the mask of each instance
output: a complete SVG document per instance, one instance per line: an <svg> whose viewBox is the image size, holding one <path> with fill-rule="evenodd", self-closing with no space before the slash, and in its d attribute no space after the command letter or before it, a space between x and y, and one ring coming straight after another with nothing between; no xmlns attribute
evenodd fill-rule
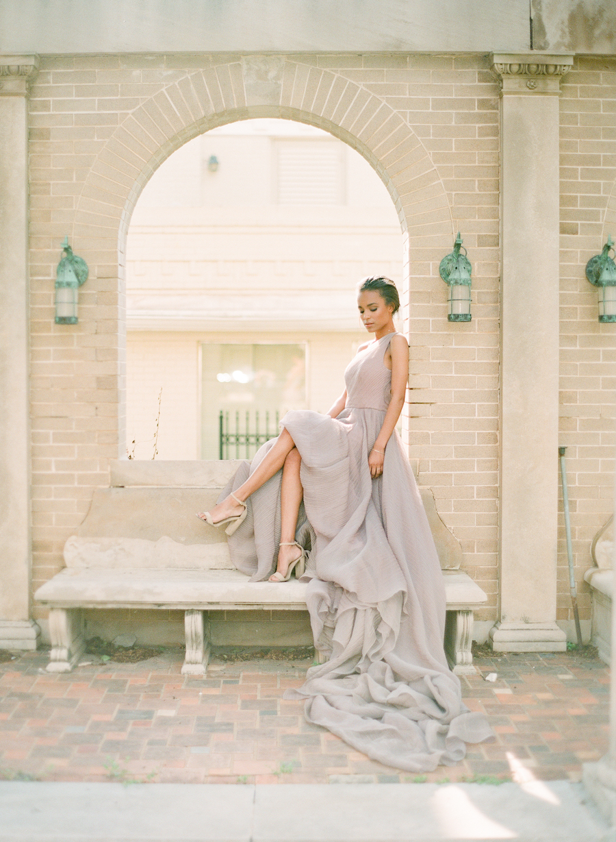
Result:
<svg viewBox="0 0 616 842"><path fill-rule="evenodd" d="M583 265L603 245L613 190L613 86L613 65L583 59L561 99L562 423L579 573L611 509L613 328L597 324ZM602 104L605 95L612 99ZM364 154L396 204L412 344L409 454L462 542L465 567L490 595L480 619L495 619L498 88L488 59L301 56L285 62L274 96L244 85L239 57L43 58L30 109L35 587L61 568L66 537L93 487L107 482L107 460L123 453L124 243L142 185L201 131L281 116L313 122ZM473 264L470 324L447 322L438 277L458 229ZM75 328L53 323L66 234L91 270ZM564 597L560 612L566 617Z"/></svg>

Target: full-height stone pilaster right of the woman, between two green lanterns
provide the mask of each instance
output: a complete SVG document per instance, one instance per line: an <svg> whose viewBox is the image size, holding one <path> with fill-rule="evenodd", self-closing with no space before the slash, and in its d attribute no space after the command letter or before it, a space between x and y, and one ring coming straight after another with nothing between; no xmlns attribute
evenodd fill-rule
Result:
<svg viewBox="0 0 616 842"><path fill-rule="evenodd" d="M500 652L562 651L556 625L559 93L571 56L493 56L501 91Z"/></svg>

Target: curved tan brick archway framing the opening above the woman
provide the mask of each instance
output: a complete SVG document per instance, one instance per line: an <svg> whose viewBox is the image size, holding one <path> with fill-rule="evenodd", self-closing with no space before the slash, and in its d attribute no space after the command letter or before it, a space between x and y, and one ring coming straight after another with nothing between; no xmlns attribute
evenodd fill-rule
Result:
<svg viewBox="0 0 616 842"><path fill-rule="evenodd" d="M118 296L115 322L109 322L107 307L102 332L117 337L120 455L125 440L125 243L136 201L152 173L184 143L215 126L256 117L316 125L363 155L380 175L401 223L405 325L411 287L430 296L433 285L440 284L433 272L424 277L423 269L413 283L410 278L414 262L438 265L443 243L451 242L449 201L422 141L383 99L335 72L277 56L251 56L187 73L119 123L83 180L74 217L77 251L87 239L97 254L98 279ZM96 309L92 317L98 333Z"/></svg>

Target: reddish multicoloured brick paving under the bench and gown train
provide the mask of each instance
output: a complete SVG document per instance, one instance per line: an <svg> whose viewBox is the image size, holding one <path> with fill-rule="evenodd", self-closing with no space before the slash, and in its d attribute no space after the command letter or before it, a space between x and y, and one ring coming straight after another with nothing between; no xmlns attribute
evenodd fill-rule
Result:
<svg viewBox="0 0 616 842"><path fill-rule="evenodd" d="M89 656L87 656L89 659ZM380 765L308 725L287 687L308 661L224 663L204 679L183 655L98 663L47 674L45 652L0 664L0 777L189 783L459 781L520 776L577 781L608 742L608 668L575 654L481 655L465 701L485 711L497 742L470 746L425 776ZM498 674L495 683L485 680Z"/></svg>

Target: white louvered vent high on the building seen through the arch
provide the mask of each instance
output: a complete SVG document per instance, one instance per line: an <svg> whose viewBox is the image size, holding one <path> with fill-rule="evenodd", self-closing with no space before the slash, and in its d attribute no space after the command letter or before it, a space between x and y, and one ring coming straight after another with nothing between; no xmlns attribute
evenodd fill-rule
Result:
<svg viewBox="0 0 616 842"><path fill-rule="evenodd" d="M276 142L276 194L280 205L343 205L340 141Z"/></svg>

